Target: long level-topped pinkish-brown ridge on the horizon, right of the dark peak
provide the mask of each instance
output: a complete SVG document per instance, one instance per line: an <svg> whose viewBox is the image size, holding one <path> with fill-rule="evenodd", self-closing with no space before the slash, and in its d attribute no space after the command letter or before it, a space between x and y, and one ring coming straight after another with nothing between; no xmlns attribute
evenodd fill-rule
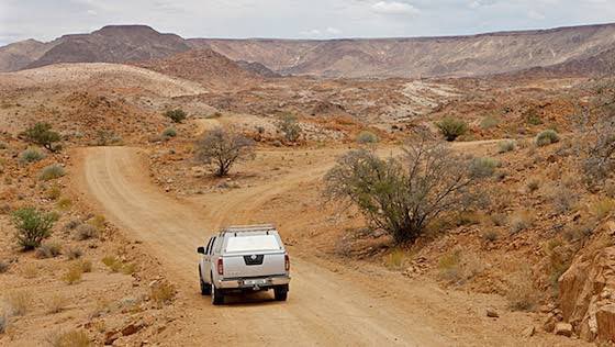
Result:
<svg viewBox="0 0 615 347"><path fill-rule="evenodd" d="M190 40L234 60L325 77L480 76L585 59L615 44L615 25L473 36L289 41Z"/></svg>

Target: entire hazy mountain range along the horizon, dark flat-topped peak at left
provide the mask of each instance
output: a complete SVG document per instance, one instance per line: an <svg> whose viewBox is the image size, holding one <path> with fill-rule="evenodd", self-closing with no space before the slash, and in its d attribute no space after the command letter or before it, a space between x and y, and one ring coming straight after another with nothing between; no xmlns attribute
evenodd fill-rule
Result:
<svg viewBox="0 0 615 347"><path fill-rule="evenodd" d="M109 25L49 43L0 47L0 71L57 63L135 63L191 49L213 49L265 77L473 77L549 69L596 74L615 49L615 24L508 31L469 36L357 40L222 40L161 34L146 25Z"/></svg>

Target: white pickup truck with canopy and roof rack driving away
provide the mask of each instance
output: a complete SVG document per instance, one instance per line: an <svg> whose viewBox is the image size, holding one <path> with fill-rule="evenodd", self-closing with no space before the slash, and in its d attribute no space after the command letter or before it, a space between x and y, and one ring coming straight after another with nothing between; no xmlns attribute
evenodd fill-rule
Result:
<svg viewBox="0 0 615 347"><path fill-rule="evenodd" d="M197 251L201 294L211 295L214 305L228 293L269 289L276 300L287 300L290 259L275 226L225 227Z"/></svg>

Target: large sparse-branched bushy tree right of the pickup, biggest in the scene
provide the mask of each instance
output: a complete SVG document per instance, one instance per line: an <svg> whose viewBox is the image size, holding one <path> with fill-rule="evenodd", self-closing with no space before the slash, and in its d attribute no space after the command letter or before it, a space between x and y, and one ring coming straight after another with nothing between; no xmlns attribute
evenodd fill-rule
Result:
<svg viewBox="0 0 615 347"><path fill-rule="evenodd" d="M396 243L414 242L439 214L467 208L474 201L474 182L485 176L476 175L468 160L447 147L425 139L404 152L401 159L384 160L366 149L353 150L325 177L329 198L357 205L373 227Z"/></svg>

